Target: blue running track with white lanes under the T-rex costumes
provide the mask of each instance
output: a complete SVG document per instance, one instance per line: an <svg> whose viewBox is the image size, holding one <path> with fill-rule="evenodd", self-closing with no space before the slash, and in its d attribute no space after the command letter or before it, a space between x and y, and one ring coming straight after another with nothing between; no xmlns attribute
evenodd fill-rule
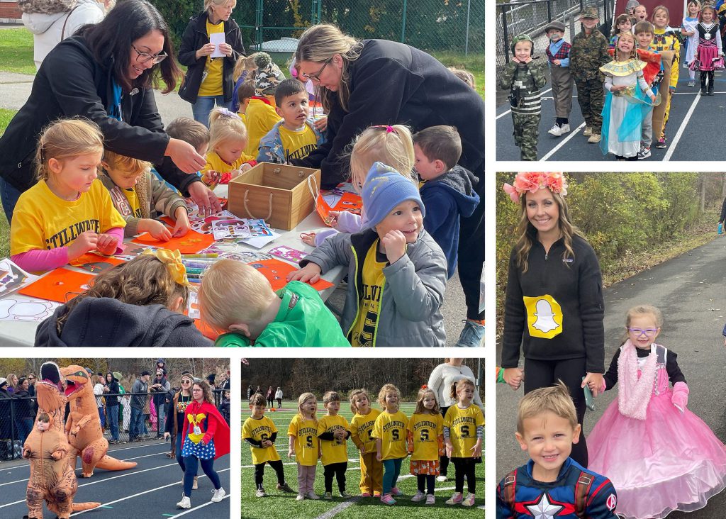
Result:
<svg viewBox="0 0 726 519"><path fill-rule="evenodd" d="M229 517L229 494L219 503L209 499L214 487L199 469L199 489L192 491L192 508L178 510L176 503L181 499L181 468L176 459L164 454L169 444L148 441L142 444L124 444L109 451L117 459L138 463L131 470L96 470L89 479L78 478L76 502L100 502L101 507L85 512L76 512L71 517L83 515L89 519L103 518L146 518L167 519L186 515L189 518L219 519ZM81 473L80 462L76 475ZM223 456L214 463L219 479L229 492L229 456ZM25 505L25 489L28 486L30 468L28 463L0 463L0 517L20 519L28 514ZM235 496L236 491L232 496ZM54 517L45 511L46 517Z"/></svg>

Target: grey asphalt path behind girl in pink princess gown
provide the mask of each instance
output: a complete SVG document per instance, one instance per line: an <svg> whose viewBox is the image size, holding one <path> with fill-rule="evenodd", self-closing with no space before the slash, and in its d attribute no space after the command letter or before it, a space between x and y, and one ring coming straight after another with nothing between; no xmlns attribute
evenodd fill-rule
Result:
<svg viewBox="0 0 726 519"><path fill-rule="evenodd" d="M653 304L661 309L664 325L657 342L678 354L678 364L690 388L688 407L726 441L726 380L724 338L726 300L722 269L726 240L718 238L690 253L673 258L605 290L605 367L619 347L625 326L625 312L636 304ZM497 360L501 345L497 345ZM497 483L514 467L527 461L515 441L516 406L522 390L497 384ZM595 412L585 414L585 435L595 426L617 396L607 391L595 400ZM721 519L726 492L712 497L702 510L669 518Z"/></svg>

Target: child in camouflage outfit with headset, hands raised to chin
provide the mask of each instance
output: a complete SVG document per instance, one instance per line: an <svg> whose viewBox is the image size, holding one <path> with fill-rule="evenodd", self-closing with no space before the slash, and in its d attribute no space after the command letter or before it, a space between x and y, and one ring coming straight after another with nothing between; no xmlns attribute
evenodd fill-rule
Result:
<svg viewBox="0 0 726 519"><path fill-rule="evenodd" d="M539 89L547 83L542 68L534 65L534 41L526 34L512 41L512 61L499 74L499 89L509 90L514 122L514 142L520 149L522 160L537 160L539 114L542 100Z"/></svg>

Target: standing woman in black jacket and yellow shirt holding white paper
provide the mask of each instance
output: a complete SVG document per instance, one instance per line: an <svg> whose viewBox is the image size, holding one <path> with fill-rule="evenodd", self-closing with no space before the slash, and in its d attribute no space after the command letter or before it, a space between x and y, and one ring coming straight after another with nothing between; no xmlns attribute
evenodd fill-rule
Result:
<svg viewBox="0 0 726 519"><path fill-rule="evenodd" d="M192 103L194 119L209 126L214 105L227 107L232 101L234 64L245 55L242 33L230 18L237 0L204 0L204 11L189 20L179 46L179 63L187 75L179 97ZM224 43L215 45L211 38L224 34Z"/></svg>

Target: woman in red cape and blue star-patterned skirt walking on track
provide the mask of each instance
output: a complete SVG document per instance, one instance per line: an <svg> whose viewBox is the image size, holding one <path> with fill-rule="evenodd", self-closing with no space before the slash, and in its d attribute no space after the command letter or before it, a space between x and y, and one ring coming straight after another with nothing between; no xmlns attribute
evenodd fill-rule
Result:
<svg viewBox="0 0 726 519"><path fill-rule="evenodd" d="M214 486L211 502L220 502L227 493L214 470L214 460L229 454L229 425L214 406L212 391L206 380L196 380L192 386L192 403L184 412L182 430L181 455L187 470L184 473L184 495L176 507L192 507L192 482L197 473L197 462Z"/></svg>

